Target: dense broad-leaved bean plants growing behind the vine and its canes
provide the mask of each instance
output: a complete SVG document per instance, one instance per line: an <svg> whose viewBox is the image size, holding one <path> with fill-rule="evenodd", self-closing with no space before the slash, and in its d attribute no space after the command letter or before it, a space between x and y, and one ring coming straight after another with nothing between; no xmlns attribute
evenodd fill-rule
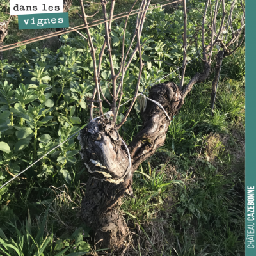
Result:
<svg viewBox="0 0 256 256"><path fill-rule="evenodd" d="M193 44L193 39L200 34L197 21L202 19L204 5L204 1L191 1L191 6L188 6L191 8L188 11L188 61L201 51L200 45ZM145 90L147 94L152 83L182 66L182 19L182 10L166 13L159 7L148 12L141 36L144 66L140 92ZM125 22L115 22L111 44L114 68L118 70ZM126 49L134 33L134 22L136 17L131 17L125 31ZM239 28L238 23L236 26ZM90 32L99 59L100 46L104 42L104 24L90 28ZM0 61L0 184L88 124L88 107L95 85L88 43L74 32L61 36L60 44L56 52L38 47L28 50L23 45L13 52L13 61ZM139 58L135 55L124 77L122 102L131 99L134 93L138 67ZM179 70L167 79L179 83ZM185 83L188 80L189 77L185 77ZM100 84L104 97L111 100L111 71L106 51L100 70ZM117 120L122 120L125 109L125 105L120 108ZM109 110L104 102L103 110L104 113ZM140 111L138 103L135 110ZM97 116L97 108L94 111ZM127 122L131 122L131 118ZM43 157L40 164L33 166L33 176L40 179L59 177L70 184L75 179L70 166L79 161L79 147L76 136L72 137ZM29 177L28 173L24 175Z"/></svg>

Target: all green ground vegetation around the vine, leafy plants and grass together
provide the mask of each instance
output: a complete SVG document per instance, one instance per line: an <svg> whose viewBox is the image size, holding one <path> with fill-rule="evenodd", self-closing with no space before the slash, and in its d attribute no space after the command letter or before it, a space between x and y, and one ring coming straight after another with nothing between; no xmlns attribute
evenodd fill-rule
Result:
<svg viewBox="0 0 256 256"><path fill-rule="evenodd" d="M202 51L193 44L193 35L204 5L205 1L189 1L188 61ZM242 10L236 12L234 29L239 28ZM131 17L127 25L127 46L134 22ZM116 21L111 31L116 69L124 24ZM147 13L139 92L182 66L182 29L182 8L166 12L159 7ZM90 28L90 33L99 56L104 24ZM88 99L95 86L90 49L76 33L63 35L60 41L56 52L21 46L13 51L12 61L0 61L0 186L89 122ZM122 102L133 97L138 64L135 55L124 77ZM187 67L185 83L197 70L200 61L194 60ZM179 84L178 72L166 81ZM104 97L111 99L108 54L102 59L100 79ZM243 255L244 163L243 154L238 154L244 140L243 79L244 47L223 61L214 116L209 108L211 83L196 84L172 120L164 147L134 173L134 198L124 198L121 207L136 233L132 246L127 244L127 255ZM103 110L109 111L105 103ZM99 116L97 108L93 111ZM118 123L126 111L125 105L120 107ZM136 103L119 133L128 143L141 124ZM74 136L0 190L3 255L83 255L95 250L86 238L90 229L77 216L88 178L80 149Z"/></svg>

